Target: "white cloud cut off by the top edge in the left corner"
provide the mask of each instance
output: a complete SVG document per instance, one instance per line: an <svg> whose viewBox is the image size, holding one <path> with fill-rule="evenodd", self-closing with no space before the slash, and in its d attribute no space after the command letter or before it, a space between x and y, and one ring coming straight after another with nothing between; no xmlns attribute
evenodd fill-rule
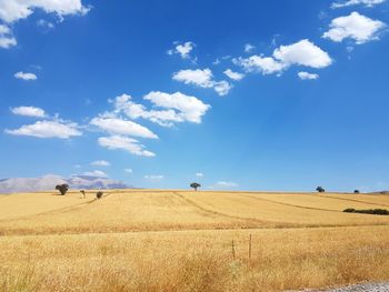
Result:
<svg viewBox="0 0 389 292"><path fill-rule="evenodd" d="M60 18L70 14L83 16L89 11L81 0L0 0L0 19L9 23L14 22L28 18L34 9L56 13Z"/></svg>

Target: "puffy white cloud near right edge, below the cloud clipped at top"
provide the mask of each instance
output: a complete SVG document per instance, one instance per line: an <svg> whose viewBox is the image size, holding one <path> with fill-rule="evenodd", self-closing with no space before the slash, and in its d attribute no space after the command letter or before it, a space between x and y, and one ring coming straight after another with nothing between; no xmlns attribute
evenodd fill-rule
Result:
<svg viewBox="0 0 389 292"><path fill-rule="evenodd" d="M379 39L377 34L385 27L386 24L379 20L372 20L358 12L351 12L348 17L332 19L330 29L322 37L336 42L350 38L356 43L361 44Z"/></svg>

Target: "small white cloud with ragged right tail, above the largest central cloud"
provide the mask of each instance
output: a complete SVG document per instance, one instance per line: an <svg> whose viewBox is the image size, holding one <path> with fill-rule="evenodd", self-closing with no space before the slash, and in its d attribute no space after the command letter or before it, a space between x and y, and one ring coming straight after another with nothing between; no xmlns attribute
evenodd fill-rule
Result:
<svg viewBox="0 0 389 292"><path fill-rule="evenodd" d="M213 88L219 95L226 95L231 90L231 84L227 81L215 81L212 71L209 68L187 69L173 73L172 79L184 84L194 84L201 88Z"/></svg>

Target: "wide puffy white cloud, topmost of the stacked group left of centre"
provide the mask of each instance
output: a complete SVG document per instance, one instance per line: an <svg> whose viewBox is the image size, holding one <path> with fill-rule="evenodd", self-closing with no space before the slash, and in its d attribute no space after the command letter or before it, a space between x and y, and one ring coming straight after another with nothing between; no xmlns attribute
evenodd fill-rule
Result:
<svg viewBox="0 0 389 292"><path fill-rule="evenodd" d="M122 94L112 102L113 114L124 113L130 119L142 118L163 127L171 127L174 122L200 123L201 117L210 108L201 100L176 92L172 94L164 92L150 92L143 97L159 110L148 110L143 104L134 103L131 95Z"/></svg>

